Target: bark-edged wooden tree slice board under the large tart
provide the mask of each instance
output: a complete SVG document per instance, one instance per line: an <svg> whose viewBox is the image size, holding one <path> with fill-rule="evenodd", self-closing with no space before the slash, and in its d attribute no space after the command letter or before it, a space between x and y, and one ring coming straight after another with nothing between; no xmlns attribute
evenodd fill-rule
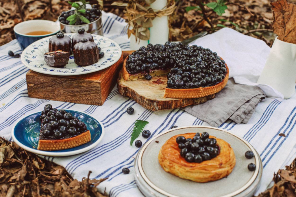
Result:
<svg viewBox="0 0 296 197"><path fill-rule="evenodd" d="M164 98L167 80L166 76L154 76L150 81L146 79L125 81L120 71L117 87L121 95L131 97L144 108L154 111L197 105L215 98L215 94L200 98Z"/></svg>

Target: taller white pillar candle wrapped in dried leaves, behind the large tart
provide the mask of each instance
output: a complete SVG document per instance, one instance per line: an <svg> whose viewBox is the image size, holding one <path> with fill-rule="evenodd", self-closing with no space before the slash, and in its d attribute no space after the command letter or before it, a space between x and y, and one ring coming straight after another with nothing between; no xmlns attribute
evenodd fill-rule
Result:
<svg viewBox="0 0 296 197"><path fill-rule="evenodd" d="M151 8L157 12L161 9L166 8L167 0L156 0L151 5ZM150 27L150 39L149 43L165 44L168 41L169 27L168 27L168 16L155 17L152 20L153 27Z"/></svg>

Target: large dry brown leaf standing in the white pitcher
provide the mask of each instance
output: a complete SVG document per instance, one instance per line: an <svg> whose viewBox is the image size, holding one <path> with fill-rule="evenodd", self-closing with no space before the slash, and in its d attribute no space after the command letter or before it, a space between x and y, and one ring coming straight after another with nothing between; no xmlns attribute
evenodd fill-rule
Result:
<svg viewBox="0 0 296 197"><path fill-rule="evenodd" d="M279 0L271 5L274 33L280 40L296 44L296 5L288 4L286 0Z"/></svg>

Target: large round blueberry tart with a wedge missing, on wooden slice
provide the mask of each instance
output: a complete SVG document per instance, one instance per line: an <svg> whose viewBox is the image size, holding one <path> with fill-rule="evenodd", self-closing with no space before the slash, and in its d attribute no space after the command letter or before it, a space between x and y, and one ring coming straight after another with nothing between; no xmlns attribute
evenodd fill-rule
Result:
<svg viewBox="0 0 296 197"><path fill-rule="evenodd" d="M148 44L124 61L123 78L151 80L166 75L166 98L198 98L223 89L229 77L225 61L208 48L170 43Z"/></svg>

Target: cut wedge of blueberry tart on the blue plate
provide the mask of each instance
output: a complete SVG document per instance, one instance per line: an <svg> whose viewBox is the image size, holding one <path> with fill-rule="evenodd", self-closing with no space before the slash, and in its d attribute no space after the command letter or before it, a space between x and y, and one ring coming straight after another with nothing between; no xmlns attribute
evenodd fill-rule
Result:
<svg viewBox="0 0 296 197"><path fill-rule="evenodd" d="M38 150L69 149L91 140L90 131L85 123L66 110L57 110L50 104L45 105L40 119Z"/></svg>

